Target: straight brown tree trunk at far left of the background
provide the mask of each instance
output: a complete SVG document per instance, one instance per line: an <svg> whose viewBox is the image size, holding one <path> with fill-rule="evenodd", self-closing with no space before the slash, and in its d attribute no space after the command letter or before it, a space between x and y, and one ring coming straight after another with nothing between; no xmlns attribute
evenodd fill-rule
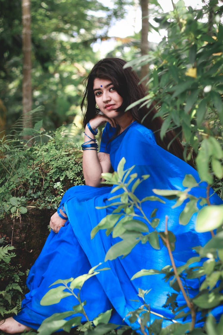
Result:
<svg viewBox="0 0 223 335"><path fill-rule="evenodd" d="M23 129L32 128L31 116L27 114L32 109L31 86L31 13L30 0L22 0L22 52L23 52L23 82L22 82L22 116ZM25 137L26 139L27 136Z"/></svg>

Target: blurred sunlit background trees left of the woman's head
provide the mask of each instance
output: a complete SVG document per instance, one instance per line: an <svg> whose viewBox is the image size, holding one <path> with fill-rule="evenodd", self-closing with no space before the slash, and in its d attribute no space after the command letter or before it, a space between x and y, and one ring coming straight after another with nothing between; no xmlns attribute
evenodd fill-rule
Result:
<svg viewBox="0 0 223 335"><path fill-rule="evenodd" d="M44 106L44 127L56 129L80 115L82 81L100 58L93 44L108 39L130 1L117 0L113 9L96 0L30 2L32 109ZM0 4L0 118L8 133L22 113L22 6Z"/></svg>

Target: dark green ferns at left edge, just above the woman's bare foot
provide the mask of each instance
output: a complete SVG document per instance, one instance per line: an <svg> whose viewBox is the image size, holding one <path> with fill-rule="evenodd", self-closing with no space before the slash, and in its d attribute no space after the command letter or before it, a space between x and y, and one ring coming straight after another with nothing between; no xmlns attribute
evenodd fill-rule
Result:
<svg viewBox="0 0 223 335"><path fill-rule="evenodd" d="M1 241L3 242L3 241ZM12 265L15 257L14 247L0 244L0 315L2 317L17 314L21 308L21 296L23 293L20 265Z"/></svg>

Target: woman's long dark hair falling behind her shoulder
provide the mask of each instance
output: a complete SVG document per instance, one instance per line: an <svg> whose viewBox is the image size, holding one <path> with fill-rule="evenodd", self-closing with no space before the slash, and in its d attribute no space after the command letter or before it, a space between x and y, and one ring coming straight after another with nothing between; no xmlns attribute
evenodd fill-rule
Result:
<svg viewBox="0 0 223 335"><path fill-rule="evenodd" d="M115 90L123 98L123 103L117 111L125 111L130 104L145 96L145 88L139 83L139 77L131 67L123 69L125 64L126 62L120 58L104 58L94 65L84 81L85 91L81 102L84 127L96 114L96 101L93 92L95 78L111 80ZM139 104L129 112L137 122L153 131L158 145L184 159L184 147L172 130L166 132L165 137L161 140L159 133L163 121L160 117L154 117L157 113L154 103L151 104L149 109L146 106L140 107Z"/></svg>

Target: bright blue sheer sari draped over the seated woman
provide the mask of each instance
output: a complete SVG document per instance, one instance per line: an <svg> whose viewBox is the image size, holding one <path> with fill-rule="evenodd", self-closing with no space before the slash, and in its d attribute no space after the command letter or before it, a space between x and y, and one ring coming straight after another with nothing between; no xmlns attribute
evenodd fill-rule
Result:
<svg viewBox="0 0 223 335"><path fill-rule="evenodd" d="M152 189L178 189L184 190L182 181L186 174L191 174L199 181L198 173L186 162L165 151L155 142L151 130L133 122L120 135L113 138L115 128L106 125L102 141L101 152L110 153L110 160L114 171L118 163L125 157L125 169L135 165L133 173L138 177L149 174L150 177L140 184L135 194L139 199L154 195ZM54 313L72 310L77 304L74 297L66 297L60 303L52 306L40 306L42 296L48 287L57 279L68 279L87 273L89 269L105 259L106 252L114 245L117 238L108 237L104 230L100 230L91 240L91 230L114 207L96 209L97 206L109 204L112 187L75 186L64 195L64 203L68 221L58 234L50 232L46 243L30 269L27 279L29 293L25 295L21 312L14 318L29 327L37 329L42 321ZM213 191L212 191L213 192ZM193 189L197 197L206 196L205 184ZM222 203L216 194L212 194L211 202ZM179 214L182 206L172 208L175 200L166 200L165 204L147 201L143 210L149 218L154 208L157 208L156 217L160 219L157 230L165 228L165 216L168 215L168 229L176 235L176 247L173 256L177 266L183 265L189 257L196 256L192 247L204 245L210 238L210 233L197 233L195 231L196 214L186 226L179 224ZM153 229L149 227L149 231ZM151 322L158 315L164 317L163 326L171 323L173 314L170 309L164 308L167 294L175 292L163 280L163 275L143 276L134 280L130 278L141 269L160 270L171 264L167 249L160 243L160 250L154 250L148 243L137 244L132 252L125 258L119 257L114 261L107 261L101 266L110 267L97 276L90 278L83 286L81 297L87 301L86 313L90 320L98 314L113 308L111 322L122 324L122 319L130 312L142 305L137 295L138 288L151 289L146 295L147 303L151 308ZM191 279L188 282L191 296L198 293L199 282ZM181 294L178 296L178 306L185 305ZM222 310L218 310L221 314ZM82 318L84 322L85 319ZM187 320L186 320L187 321ZM128 317L124 323L129 324ZM133 325L138 327L137 323Z"/></svg>

